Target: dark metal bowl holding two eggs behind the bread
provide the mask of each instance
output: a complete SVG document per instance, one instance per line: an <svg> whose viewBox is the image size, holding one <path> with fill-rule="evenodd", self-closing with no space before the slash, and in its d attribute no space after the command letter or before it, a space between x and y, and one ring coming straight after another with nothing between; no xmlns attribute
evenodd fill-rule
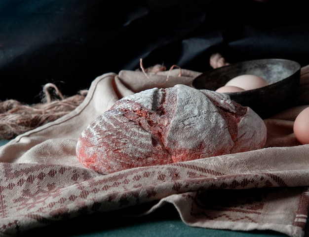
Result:
<svg viewBox="0 0 309 237"><path fill-rule="evenodd" d="M260 76L269 85L254 90L226 93L232 100L251 107L262 118L291 105L300 81L299 63L286 59L259 59L206 71L193 80L196 89L217 90L242 74Z"/></svg>

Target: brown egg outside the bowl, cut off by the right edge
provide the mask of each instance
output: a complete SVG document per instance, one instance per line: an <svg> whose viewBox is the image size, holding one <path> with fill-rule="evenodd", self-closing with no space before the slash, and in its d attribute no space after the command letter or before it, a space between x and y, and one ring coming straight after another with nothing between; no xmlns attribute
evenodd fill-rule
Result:
<svg viewBox="0 0 309 237"><path fill-rule="evenodd" d="M297 115L293 131L300 143L309 144L309 107L305 108Z"/></svg>

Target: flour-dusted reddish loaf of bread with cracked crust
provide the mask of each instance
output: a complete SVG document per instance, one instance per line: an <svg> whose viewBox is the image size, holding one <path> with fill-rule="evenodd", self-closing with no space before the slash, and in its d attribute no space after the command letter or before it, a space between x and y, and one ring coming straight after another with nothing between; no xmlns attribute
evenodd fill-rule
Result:
<svg viewBox="0 0 309 237"><path fill-rule="evenodd" d="M77 158L107 174L261 149L264 121L226 94L186 85L117 101L82 132Z"/></svg>

